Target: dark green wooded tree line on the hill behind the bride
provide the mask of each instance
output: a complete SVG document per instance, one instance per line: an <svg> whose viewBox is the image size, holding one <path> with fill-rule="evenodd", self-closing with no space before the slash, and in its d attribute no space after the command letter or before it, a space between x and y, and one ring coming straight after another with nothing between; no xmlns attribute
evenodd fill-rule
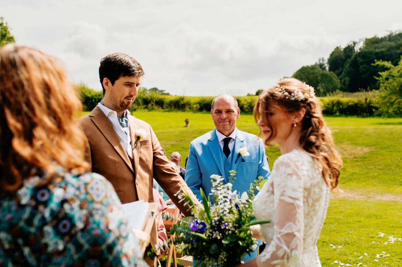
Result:
<svg viewBox="0 0 402 267"><path fill-rule="evenodd" d="M303 66L292 77L316 88L325 96L336 90L359 92L378 90L381 72L390 65L396 66L402 56L402 32L390 32L383 37L371 37L351 41L345 47L335 47L328 60L318 59L313 65Z"/></svg>

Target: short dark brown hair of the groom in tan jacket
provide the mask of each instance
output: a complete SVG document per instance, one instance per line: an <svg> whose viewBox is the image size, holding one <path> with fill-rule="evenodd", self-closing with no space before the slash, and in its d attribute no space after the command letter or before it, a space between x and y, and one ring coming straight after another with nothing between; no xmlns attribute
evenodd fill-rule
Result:
<svg viewBox="0 0 402 267"><path fill-rule="evenodd" d="M123 53L107 55L103 59L100 59L99 66L99 79L103 89L102 96L105 96L105 88L103 87L104 78L108 78L113 85L120 77L142 75L144 75L144 70L133 57Z"/></svg>

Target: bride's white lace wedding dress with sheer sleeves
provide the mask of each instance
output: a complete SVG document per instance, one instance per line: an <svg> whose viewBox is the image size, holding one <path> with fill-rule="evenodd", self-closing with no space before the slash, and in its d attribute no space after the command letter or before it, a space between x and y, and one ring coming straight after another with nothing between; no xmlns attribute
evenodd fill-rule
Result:
<svg viewBox="0 0 402 267"><path fill-rule="evenodd" d="M317 267L317 240L324 224L330 190L320 163L306 151L295 149L281 155L271 176L254 199L258 220L267 241L257 257L258 267Z"/></svg>

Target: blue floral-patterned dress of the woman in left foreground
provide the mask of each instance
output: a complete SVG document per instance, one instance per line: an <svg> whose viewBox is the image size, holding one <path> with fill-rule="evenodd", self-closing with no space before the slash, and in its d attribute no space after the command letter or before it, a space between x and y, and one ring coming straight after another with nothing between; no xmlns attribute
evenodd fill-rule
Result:
<svg viewBox="0 0 402 267"><path fill-rule="evenodd" d="M111 183L55 169L0 194L0 266L148 266Z"/></svg>

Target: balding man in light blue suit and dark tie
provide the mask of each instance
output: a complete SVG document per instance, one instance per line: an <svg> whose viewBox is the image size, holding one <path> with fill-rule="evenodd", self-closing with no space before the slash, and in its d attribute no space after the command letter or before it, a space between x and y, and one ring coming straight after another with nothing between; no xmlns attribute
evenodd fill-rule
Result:
<svg viewBox="0 0 402 267"><path fill-rule="evenodd" d="M270 175L263 141L236 128L236 120L240 117L237 100L226 94L217 96L212 101L211 116L215 129L190 143L186 165L185 181L199 200L200 188L207 196L211 193L212 174L223 176L227 183L229 171L237 171L232 190L240 194L247 191L258 176L267 179ZM241 148L246 148L250 155L239 156ZM243 261L254 257L256 251L246 255Z"/></svg>

